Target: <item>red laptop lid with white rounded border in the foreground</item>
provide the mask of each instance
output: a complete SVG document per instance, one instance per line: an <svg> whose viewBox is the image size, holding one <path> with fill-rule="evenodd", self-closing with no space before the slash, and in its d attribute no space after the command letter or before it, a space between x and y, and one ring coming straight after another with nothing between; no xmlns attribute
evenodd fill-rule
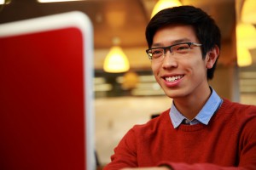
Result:
<svg viewBox="0 0 256 170"><path fill-rule="evenodd" d="M0 169L96 168L93 75L86 14L0 25Z"/></svg>

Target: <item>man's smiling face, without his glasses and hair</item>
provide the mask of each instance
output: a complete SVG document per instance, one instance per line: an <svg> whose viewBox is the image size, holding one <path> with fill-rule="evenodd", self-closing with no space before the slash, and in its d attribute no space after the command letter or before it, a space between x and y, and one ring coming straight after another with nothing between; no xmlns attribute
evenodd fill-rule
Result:
<svg viewBox="0 0 256 170"><path fill-rule="evenodd" d="M192 26L167 26L156 31L152 48L171 46L177 42L201 43L195 37ZM207 60L208 57L202 59L201 47L192 45L189 53L184 55L175 52L171 54L167 49L163 59L152 60L152 71L168 97L172 99L197 97L209 89Z"/></svg>

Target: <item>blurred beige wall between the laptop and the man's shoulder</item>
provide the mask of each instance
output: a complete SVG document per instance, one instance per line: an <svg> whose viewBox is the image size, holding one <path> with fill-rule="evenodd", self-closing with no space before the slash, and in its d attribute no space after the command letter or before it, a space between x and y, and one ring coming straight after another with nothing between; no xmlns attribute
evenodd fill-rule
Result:
<svg viewBox="0 0 256 170"><path fill-rule="evenodd" d="M152 115L171 105L172 99L166 96L96 99L96 152L100 163L110 161L114 147L131 127L148 122Z"/></svg>

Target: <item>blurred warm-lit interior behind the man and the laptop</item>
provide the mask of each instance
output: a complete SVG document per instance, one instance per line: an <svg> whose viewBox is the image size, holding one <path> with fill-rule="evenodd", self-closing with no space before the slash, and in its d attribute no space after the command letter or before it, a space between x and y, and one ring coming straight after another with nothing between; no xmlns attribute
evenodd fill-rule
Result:
<svg viewBox="0 0 256 170"><path fill-rule="evenodd" d="M172 99L154 81L145 53L148 48L145 27L158 2L0 0L0 24L73 10L90 17L94 28L95 141L102 166L110 161L113 148L128 129L147 122L172 104ZM222 31L222 50L211 86L222 98L256 105L256 1L180 0L179 3L202 8L212 15ZM112 53L120 59L113 60Z"/></svg>

